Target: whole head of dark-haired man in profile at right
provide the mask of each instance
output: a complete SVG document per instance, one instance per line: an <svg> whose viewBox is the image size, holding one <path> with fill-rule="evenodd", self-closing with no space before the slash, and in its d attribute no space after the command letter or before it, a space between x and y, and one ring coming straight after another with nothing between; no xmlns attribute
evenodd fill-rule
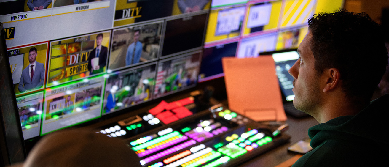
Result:
<svg viewBox="0 0 389 167"><path fill-rule="evenodd" d="M319 123L366 107L385 73L387 51L380 25L345 9L308 20L294 77L294 106Z"/></svg>

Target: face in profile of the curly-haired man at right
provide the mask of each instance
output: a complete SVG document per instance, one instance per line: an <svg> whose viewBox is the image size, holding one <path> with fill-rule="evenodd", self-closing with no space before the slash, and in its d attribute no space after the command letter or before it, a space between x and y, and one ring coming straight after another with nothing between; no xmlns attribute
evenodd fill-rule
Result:
<svg viewBox="0 0 389 167"><path fill-rule="evenodd" d="M300 59L289 69L289 74L294 78L293 92L295 96L293 105L296 109L310 115L318 109L322 93L319 85L320 76L314 68L315 59L310 49L311 39L312 33L308 31L298 47Z"/></svg>

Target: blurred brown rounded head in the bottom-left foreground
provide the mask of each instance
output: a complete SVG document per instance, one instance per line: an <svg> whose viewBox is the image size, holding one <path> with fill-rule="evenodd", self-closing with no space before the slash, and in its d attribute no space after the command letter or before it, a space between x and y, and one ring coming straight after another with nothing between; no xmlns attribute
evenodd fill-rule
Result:
<svg viewBox="0 0 389 167"><path fill-rule="evenodd" d="M58 131L42 138L23 167L141 167L124 142L87 130Z"/></svg>

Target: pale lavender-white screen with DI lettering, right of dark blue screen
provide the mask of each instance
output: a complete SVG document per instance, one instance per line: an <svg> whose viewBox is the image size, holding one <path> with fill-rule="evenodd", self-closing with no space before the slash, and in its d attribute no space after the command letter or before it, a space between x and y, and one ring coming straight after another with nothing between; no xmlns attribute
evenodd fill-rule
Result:
<svg viewBox="0 0 389 167"><path fill-rule="evenodd" d="M276 42L277 42L276 33L244 38L239 44L237 57L238 58L258 57L259 52L274 51Z"/></svg>

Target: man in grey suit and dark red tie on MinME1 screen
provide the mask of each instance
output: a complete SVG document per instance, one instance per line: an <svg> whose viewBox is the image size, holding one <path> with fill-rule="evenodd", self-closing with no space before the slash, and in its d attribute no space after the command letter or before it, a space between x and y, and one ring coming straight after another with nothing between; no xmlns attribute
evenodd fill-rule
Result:
<svg viewBox="0 0 389 167"><path fill-rule="evenodd" d="M20 77L18 90L19 92L30 91L33 89L39 89L43 86L45 77L44 64L37 62L37 48L33 47L28 52L28 61L30 64L23 69Z"/></svg>

